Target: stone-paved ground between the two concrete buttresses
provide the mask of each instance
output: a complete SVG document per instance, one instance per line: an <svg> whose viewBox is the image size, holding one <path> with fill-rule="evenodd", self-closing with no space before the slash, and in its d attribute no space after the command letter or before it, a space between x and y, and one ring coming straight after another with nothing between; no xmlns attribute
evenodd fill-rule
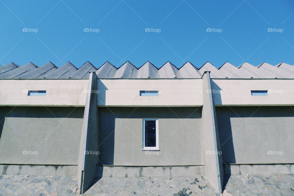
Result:
<svg viewBox="0 0 294 196"><path fill-rule="evenodd" d="M83 194L86 195L213 196L216 194L205 177L103 177Z"/></svg>

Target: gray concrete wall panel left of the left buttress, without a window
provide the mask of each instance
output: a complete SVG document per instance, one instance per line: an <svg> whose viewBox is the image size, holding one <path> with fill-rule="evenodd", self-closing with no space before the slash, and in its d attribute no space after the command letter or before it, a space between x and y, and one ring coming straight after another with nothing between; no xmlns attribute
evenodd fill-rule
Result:
<svg viewBox="0 0 294 196"><path fill-rule="evenodd" d="M0 164L77 164L84 107L0 107Z"/></svg>

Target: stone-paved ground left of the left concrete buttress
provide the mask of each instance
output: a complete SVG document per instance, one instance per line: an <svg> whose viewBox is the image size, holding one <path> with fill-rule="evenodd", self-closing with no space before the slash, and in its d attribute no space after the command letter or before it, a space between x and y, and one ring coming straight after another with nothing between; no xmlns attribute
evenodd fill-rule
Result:
<svg viewBox="0 0 294 196"><path fill-rule="evenodd" d="M0 175L0 195L75 195L77 179L72 176Z"/></svg>

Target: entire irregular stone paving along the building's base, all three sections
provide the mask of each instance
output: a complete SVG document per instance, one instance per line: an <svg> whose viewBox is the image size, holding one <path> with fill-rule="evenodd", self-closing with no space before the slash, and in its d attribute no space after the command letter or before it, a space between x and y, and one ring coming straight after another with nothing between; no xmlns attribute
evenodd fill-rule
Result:
<svg viewBox="0 0 294 196"><path fill-rule="evenodd" d="M103 177L89 196L294 196L294 174L232 175L223 194L216 194L205 177ZM73 176L0 175L0 196L74 196Z"/></svg>

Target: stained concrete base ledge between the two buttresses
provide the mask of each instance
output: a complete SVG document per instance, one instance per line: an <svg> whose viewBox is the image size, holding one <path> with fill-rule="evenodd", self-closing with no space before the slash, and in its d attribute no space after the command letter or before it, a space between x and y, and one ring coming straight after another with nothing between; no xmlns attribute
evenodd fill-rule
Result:
<svg viewBox="0 0 294 196"><path fill-rule="evenodd" d="M97 166L97 177L205 176L204 165L191 166Z"/></svg>

